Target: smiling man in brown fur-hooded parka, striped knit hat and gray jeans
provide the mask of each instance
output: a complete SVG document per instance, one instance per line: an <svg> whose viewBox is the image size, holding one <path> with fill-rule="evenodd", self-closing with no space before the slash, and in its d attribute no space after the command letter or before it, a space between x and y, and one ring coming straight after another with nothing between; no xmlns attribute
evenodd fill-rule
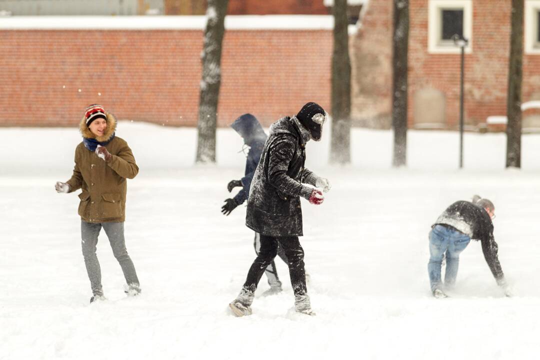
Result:
<svg viewBox="0 0 540 360"><path fill-rule="evenodd" d="M101 105L86 108L79 130L83 141L75 149L75 168L71 179L57 182L58 193L79 194L78 213L81 218L81 237L84 262L93 296L90 302L104 300L101 269L96 256L98 235L103 227L114 257L120 263L127 282L126 293L140 293L139 279L127 254L124 240L126 179L139 172L130 147L116 137L116 120Z"/></svg>

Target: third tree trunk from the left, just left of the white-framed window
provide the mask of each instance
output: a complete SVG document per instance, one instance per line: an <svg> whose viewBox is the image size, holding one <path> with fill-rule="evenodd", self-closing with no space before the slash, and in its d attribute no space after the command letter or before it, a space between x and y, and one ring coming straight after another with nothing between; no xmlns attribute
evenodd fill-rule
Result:
<svg viewBox="0 0 540 360"><path fill-rule="evenodd" d="M392 165L407 164L407 52L409 46L409 1L394 0L392 125L394 158Z"/></svg>

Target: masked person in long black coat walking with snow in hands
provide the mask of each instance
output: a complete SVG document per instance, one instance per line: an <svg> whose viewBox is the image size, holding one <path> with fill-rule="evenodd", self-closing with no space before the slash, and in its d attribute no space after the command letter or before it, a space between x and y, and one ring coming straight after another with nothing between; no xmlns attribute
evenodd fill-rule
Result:
<svg viewBox="0 0 540 360"><path fill-rule="evenodd" d="M321 191L303 184L322 188L325 192L330 189L327 179L304 166L306 142L321 139L326 118L321 106L307 103L296 116L281 118L270 128L270 136L253 175L246 213L246 226L260 234L261 248L240 294L229 304L236 316L251 314L257 284L276 256L278 244L288 259L296 311L314 315L306 288L304 253L298 240L298 236L303 235L300 196L320 205L324 200Z"/></svg>

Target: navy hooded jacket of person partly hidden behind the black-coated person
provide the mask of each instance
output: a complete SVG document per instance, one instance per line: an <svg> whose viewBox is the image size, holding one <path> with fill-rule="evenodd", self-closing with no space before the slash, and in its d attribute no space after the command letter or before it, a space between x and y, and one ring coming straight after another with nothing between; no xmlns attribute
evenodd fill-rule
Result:
<svg viewBox="0 0 540 360"><path fill-rule="evenodd" d="M262 148L265 146L266 134L262 130L261 124L252 114L244 114L234 120L231 127L244 139L244 143L249 146L249 152L246 159L246 170L244 177L240 179L242 189L234 196L234 200L240 205L247 200L249 187L255 174L255 169L259 165Z"/></svg>

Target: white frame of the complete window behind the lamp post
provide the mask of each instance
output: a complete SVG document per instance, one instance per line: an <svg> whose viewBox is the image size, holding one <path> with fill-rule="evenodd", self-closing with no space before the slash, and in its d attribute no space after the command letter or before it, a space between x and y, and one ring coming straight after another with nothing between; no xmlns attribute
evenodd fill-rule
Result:
<svg viewBox="0 0 540 360"><path fill-rule="evenodd" d="M473 1L429 0L428 2L428 53L459 54L460 47L453 43L441 43L442 10L463 10L463 36L469 40L465 53L473 52Z"/></svg>

